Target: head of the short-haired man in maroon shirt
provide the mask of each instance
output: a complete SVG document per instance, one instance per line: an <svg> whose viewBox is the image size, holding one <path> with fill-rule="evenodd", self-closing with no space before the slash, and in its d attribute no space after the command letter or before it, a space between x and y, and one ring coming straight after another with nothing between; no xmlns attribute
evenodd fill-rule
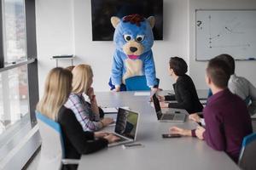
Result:
<svg viewBox="0 0 256 170"><path fill-rule="evenodd" d="M212 89L225 89L230 79L230 67L223 59L211 59L207 65L206 82ZM213 92L213 90L212 90Z"/></svg>

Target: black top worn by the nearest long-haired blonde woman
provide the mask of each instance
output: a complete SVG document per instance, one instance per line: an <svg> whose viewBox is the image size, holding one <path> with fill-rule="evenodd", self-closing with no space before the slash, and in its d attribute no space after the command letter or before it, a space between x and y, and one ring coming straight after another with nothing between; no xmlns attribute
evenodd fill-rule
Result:
<svg viewBox="0 0 256 170"><path fill-rule="evenodd" d="M94 133L84 132L73 111L62 106L58 115L65 148L65 158L80 159L82 154L90 154L108 146L107 139L95 139ZM64 166L62 169L76 169Z"/></svg>

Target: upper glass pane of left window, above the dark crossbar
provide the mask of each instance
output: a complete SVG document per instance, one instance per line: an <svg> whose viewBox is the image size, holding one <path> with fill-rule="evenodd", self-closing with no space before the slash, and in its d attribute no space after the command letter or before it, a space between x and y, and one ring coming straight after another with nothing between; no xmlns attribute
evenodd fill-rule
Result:
<svg viewBox="0 0 256 170"><path fill-rule="evenodd" d="M3 0L4 61L26 59L26 20L24 0Z"/></svg>

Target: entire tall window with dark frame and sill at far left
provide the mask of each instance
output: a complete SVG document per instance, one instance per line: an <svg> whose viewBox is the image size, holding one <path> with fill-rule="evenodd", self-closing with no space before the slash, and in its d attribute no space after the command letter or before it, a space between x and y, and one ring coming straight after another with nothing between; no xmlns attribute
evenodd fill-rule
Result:
<svg viewBox="0 0 256 170"><path fill-rule="evenodd" d="M23 145L26 161L40 144L34 113L38 103L35 21L35 0L0 2L0 164L8 157L11 167L22 152L20 141L32 142ZM10 150L16 150L15 155ZM14 166L24 165L16 161Z"/></svg>

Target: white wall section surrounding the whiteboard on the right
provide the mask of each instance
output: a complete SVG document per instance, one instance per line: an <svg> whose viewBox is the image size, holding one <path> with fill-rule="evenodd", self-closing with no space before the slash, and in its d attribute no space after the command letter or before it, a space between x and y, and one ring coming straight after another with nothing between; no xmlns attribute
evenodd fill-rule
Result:
<svg viewBox="0 0 256 170"><path fill-rule="evenodd" d="M207 62L195 61L195 9L256 8L255 0L190 0L189 1L189 71L196 88L207 88L204 82ZM213 56L212 56L213 57ZM236 75L247 77L256 86L256 61L236 61Z"/></svg>

